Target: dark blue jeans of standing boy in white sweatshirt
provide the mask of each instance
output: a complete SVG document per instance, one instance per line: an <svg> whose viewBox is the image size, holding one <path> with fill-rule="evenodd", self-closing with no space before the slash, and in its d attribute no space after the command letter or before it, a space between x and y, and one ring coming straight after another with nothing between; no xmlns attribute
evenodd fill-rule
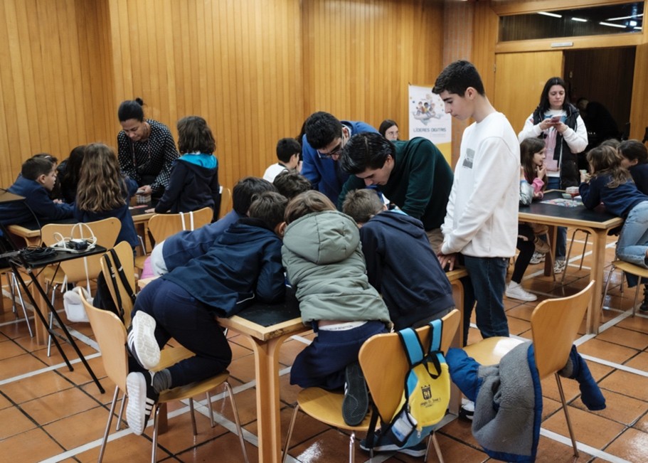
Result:
<svg viewBox="0 0 648 463"><path fill-rule="evenodd" d="M464 344L472 315L472 302L477 301L477 328L482 338L509 336L509 321L504 312L504 289L509 260L504 257L471 257L464 255L470 284L464 291Z"/></svg>

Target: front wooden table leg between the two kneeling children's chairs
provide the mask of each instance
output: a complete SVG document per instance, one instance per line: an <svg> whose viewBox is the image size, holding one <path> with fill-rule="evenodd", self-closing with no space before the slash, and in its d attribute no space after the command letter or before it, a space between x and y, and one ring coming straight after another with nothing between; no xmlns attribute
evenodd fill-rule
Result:
<svg viewBox="0 0 648 463"><path fill-rule="evenodd" d="M278 463L281 459L281 420L279 402L279 348L290 336L268 341L250 336L254 349L257 380L257 429L259 462Z"/></svg>

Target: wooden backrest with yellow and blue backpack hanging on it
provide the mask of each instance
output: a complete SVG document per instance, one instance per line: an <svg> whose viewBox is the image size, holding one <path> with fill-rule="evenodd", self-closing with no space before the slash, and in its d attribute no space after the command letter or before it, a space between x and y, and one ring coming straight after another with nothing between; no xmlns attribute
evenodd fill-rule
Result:
<svg viewBox="0 0 648 463"><path fill-rule="evenodd" d="M442 318L442 351L447 352L453 340L459 345L456 335L460 318L457 309ZM418 328L416 333L425 348L430 346L430 326ZM410 368L398 333L377 334L367 339L358 359L378 413L385 420L391 420L400 405L405 373Z"/></svg>

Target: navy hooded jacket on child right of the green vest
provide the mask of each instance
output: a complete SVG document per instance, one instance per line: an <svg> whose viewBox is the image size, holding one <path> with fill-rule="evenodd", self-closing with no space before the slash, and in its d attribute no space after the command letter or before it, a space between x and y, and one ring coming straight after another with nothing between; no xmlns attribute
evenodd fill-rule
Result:
<svg viewBox="0 0 648 463"><path fill-rule="evenodd" d="M369 283L383 295L395 330L455 307L420 220L381 212L363 225L360 239Z"/></svg>

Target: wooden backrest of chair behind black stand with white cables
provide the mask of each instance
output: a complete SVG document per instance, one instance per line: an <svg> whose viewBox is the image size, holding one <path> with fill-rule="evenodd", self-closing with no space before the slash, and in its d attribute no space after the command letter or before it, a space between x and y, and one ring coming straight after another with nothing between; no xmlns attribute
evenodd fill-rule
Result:
<svg viewBox="0 0 648 463"><path fill-rule="evenodd" d="M55 233L65 238L90 238L87 229L83 225L80 227L75 227L75 225L74 223L48 223L44 225L41 229L43 243L47 246L57 243L59 239L55 237ZM119 231L122 230L122 223L115 217L88 222L85 225L92 230L92 234L97 238L97 245L104 248L112 248L115 241L117 241ZM67 260L60 263L60 268L65 272L69 282L83 282L86 279L94 280L101 272L100 259L101 255L97 254L83 257L83 260ZM86 264L87 274L85 272Z"/></svg>

